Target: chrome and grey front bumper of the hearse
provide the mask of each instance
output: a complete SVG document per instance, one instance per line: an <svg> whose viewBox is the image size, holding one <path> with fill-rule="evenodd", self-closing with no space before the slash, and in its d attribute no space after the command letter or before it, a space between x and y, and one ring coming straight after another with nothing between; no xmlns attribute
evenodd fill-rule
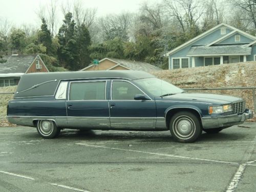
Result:
<svg viewBox="0 0 256 192"><path fill-rule="evenodd" d="M246 119L252 119L252 111L246 109L241 115L225 115L217 117L202 117L203 129L212 129L218 127L232 126L236 124L242 124Z"/></svg>

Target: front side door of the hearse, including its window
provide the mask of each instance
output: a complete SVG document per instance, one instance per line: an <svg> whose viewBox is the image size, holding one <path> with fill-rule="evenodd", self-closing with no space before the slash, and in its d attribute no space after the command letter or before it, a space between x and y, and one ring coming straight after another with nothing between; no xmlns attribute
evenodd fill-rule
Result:
<svg viewBox="0 0 256 192"><path fill-rule="evenodd" d="M135 84L126 80L112 80L110 123L113 129L154 129L156 104L149 100L134 100L136 94L146 95Z"/></svg>

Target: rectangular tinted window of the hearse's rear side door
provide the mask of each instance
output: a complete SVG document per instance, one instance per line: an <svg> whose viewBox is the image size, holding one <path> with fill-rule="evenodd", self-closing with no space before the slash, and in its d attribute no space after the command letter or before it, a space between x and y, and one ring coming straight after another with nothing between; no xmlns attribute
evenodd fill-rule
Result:
<svg viewBox="0 0 256 192"><path fill-rule="evenodd" d="M105 81L72 82L70 100L105 100Z"/></svg>

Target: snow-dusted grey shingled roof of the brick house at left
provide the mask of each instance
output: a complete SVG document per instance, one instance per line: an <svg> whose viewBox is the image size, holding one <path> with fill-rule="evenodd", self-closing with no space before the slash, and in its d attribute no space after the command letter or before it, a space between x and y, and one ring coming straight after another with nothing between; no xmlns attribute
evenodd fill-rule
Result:
<svg viewBox="0 0 256 192"><path fill-rule="evenodd" d="M11 55L4 56L4 63L0 63L0 74L26 73L36 55Z"/></svg>

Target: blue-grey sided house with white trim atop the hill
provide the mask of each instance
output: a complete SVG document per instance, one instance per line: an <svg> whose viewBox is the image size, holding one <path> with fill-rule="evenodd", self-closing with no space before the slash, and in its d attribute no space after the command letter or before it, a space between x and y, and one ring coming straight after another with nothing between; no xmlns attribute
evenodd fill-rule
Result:
<svg viewBox="0 0 256 192"><path fill-rule="evenodd" d="M256 60L256 37L220 24L165 54L169 70Z"/></svg>

